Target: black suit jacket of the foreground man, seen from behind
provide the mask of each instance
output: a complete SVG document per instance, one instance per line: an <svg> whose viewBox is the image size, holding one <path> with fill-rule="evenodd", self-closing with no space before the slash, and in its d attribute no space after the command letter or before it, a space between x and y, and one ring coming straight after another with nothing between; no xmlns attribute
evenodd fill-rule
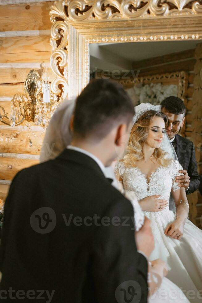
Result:
<svg viewBox="0 0 202 303"><path fill-rule="evenodd" d="M130 220L119 224L114 217ZM85 154L65 150L55 160L23 169L5 203L1 289L37 295L37 290L55 290L55 303L113 303L115 295L124 295L116 290L121 283L133 281L120 287L127 292L136 281L136 296L146 303L147 261L137 252L131 217L131 203ZM29 301L44 302L36 296ZM6 302L13 302L8 294Z"/></svg>

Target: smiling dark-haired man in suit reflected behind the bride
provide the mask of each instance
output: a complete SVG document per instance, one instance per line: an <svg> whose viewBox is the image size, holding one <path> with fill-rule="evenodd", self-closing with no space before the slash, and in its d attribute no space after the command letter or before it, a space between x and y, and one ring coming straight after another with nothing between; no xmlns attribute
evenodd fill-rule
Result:
<svg viewBox="0 0 202 303"><path fill-rule="evenodd" d="M180 136L178 133L184 125L186 108L184 102L175 96L164 99L161 103L161 111L168 117L166 133L177 154L179 163L183 167L183 176L177 177L179 187L184 187L186 194L196 191L200 185L200 177L197 171L197 162L193 143Z"/></svg>

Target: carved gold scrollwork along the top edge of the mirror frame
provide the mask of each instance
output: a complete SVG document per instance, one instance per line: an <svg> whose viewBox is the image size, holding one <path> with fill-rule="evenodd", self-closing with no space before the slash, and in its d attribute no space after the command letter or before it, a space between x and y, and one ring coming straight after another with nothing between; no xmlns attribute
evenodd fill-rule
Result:
<svg viewBox="0 0 202 303"><path fill-rule="evenodd" d="M65 2L65 1L63 1ZM189 0L73 0L65 2L68 6L68 19L82 21L90 19L151 18L166 15L184 15L201 13L200 1ZM173 4L174 8L171 6ZM186 8L190 4L191 8ZM64 11L61 15L64 15Z"/></svg>

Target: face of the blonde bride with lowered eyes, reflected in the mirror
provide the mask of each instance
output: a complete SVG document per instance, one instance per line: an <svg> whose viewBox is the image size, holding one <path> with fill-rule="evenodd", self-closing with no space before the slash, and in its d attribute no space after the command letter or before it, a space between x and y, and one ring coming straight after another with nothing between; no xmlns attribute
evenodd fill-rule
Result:
<svg viewBox="0 0 202 303"><path fill-rule="evenodd" d="M146 139L146 144L152 148L159 148L165 134L165 122L161 117L155 117L149 126L149 134Z"/></svg>

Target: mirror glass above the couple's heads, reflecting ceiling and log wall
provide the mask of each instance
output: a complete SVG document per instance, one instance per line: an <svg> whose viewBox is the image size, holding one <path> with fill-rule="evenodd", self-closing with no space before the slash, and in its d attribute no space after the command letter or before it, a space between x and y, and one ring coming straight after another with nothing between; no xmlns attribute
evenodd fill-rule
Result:
<svg viewBox="0 0 202 303"><path fill-rule="evenodd" d="M90 44L90 79L119 81L134 106L159 105L168 96L178 96L187 104L192 99L194 56L200 42Z"/></svg>

